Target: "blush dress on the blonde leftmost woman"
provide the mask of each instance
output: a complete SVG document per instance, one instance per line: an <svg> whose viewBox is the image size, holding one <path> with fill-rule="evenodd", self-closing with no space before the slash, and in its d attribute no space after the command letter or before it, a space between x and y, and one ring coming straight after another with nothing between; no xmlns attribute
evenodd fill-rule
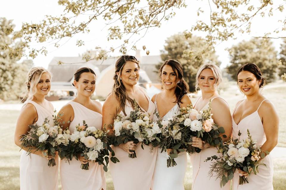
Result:
<svg viewBox="0 0 286 190"><path fill-rule="evenodd" d="M50 126L53 126L53 110L37 104L32 100L28 100L25 104L35 106L38 113L38 126L43 125L45 118L48 118ZM24 104L24 105L25 105ZM57 165L54 167L48 166L48 160L42 156L31 153L27 156L26 151L23 151L20 158L20 189L21 190L55 190L57 189L58 178L58 157L55 158Z"/></svg>

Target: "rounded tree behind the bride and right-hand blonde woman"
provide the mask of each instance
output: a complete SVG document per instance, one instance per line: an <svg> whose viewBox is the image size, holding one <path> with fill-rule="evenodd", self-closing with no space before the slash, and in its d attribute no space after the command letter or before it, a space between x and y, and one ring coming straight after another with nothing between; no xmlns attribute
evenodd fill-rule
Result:
<svg viewBox="0 0 286 190"><path fill-rule="evenodd" d="M179 33L168 37L165 43L164 50L161 50L162 61L175 59L182 64L184 79L189 84L191 92L195 91L196 74L201 65L220 65L213 47L201 37L192 36L186 39L183 33ZM161 64L157 65L157 68L160 66Z"/></svg>

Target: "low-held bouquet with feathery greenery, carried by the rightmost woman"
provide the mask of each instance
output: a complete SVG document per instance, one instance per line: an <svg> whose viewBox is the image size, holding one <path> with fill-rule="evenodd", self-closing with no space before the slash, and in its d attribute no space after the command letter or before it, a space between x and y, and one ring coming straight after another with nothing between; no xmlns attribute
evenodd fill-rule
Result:
<svg viewBox="0 0 286 190"><path fill-rule="evenodd" d="M222 156L212 156L206 159L215 160L212 162L209 176L212 177L214 174L217 178L220 178L220 186L224 186L234 176L234 172L237 169L254 174L258 172L258 166L264 165L260 163L260 160L265 157L264 153L256 145L256 141L251 138L249 130L247 129L248 138L239 141L239 139L229 139L227 142L220 146L218 152L222 153ZM239 132L239 136L241 133ZM243 185L248 183L246 176L239 177L239 184Z"/></svg>

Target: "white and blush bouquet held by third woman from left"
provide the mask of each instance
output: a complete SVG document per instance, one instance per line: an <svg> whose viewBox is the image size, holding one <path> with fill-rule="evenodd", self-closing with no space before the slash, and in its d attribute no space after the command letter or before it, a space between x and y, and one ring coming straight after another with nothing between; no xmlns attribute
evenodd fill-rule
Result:
<svg viewBox="0 0 286 190"><path fill-rule="evenodd" d="M135 109L130 112L129 116L118 114L114 119L115 140L113 144L116 146L128 141L142 142L141 147L144 149L143 143L148 145L150 141L157 138L156 134L161 131L158 124L150 123L150 115L142 113L135 100L133 100L133 105ZM129 154L129 158L137 157L135 151L130 150L130 152L134 153Z"/></svg>

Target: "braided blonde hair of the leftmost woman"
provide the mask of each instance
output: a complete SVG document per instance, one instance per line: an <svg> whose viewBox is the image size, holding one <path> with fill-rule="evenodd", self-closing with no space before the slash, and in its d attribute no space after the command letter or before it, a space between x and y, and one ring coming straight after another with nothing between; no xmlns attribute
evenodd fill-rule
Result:
<svg viewBox="0 0 286 190"><path fill-rule="evenodd" d="M33 95L37 91L36 85L40 81L42 74L45 72L52 78L52 74L43 67L32 67L29 70L27 80L25 82L27 89L19 97L21 102L26 102L27 100L32 99Z"/></svg>

